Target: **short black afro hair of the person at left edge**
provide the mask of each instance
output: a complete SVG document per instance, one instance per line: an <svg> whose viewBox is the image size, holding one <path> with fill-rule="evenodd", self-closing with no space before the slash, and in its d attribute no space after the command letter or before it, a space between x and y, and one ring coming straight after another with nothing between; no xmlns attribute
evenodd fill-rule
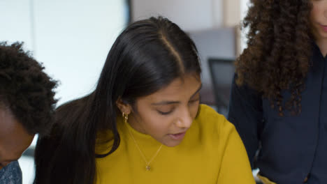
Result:
<svg viewBox="0 0 327 184"><path fill-rule="evenodd" d="M57 82L22 43L0 43L0 108L8 109L30 135L46 135L53 123Z"/></svg>

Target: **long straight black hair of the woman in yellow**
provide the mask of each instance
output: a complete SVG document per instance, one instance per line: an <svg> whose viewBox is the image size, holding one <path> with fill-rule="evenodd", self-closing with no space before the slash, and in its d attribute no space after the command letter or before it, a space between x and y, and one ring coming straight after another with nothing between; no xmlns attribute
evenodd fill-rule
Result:
<svg viewBox="0 0 327 184"><path fill-rule="evenodd" d="M52 135L38 140L34 183L94 183L95 159L119 146L116 101L133 106L177 77L200 73L196 46L176 24L151 17L129 25L112 45L96 89L61 105ZM97 134L107 130L111 151L96 155Z"/></svg>

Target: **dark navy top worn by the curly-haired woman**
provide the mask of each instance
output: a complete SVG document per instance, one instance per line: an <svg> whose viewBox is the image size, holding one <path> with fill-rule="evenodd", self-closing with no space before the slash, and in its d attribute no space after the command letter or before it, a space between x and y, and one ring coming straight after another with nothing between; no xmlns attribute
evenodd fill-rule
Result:
<svg viewBox="0 0 327 184"><path fill-rule="evenodd" d="M279 116L266 98L233 79L228 121L242 137L252 168L259 167L270 181L327 183L327 96L322 89L324 78L327 86L326 60L314 45L297 116L287 111ZM282 94L289 99L289 92Z"/></svg>

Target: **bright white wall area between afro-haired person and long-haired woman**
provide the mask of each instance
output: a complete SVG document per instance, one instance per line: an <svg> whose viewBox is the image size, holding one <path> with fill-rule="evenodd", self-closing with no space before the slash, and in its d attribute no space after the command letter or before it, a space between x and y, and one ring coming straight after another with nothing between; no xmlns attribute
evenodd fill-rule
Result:
<svg viewBox="0 0 327 184"><path fill-rule="evenodd" d="M92 90L126 26L125 10L124 0L1 0L0 40L25 42L61 82L56 95L61 104Z"/></svg>

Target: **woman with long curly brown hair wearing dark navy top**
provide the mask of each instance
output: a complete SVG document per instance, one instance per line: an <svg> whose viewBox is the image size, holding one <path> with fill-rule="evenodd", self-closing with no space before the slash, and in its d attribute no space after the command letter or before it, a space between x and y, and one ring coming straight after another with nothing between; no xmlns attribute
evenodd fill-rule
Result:
<svg viewBox="0 0 327 184"><path fill-rule="evenodd" d="M252 0L243 24L228 120L252 168L266 183L326 183L327 1Z"/></svg>

